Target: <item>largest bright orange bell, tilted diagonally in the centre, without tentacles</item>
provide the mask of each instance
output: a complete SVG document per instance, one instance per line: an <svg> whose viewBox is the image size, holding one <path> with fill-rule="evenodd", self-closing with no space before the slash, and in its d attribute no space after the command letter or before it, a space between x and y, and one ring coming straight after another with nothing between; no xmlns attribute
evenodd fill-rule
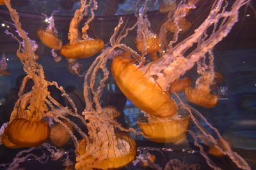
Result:
<svg viewBox="0 0 256 170"><path fill-rule="evenodd" d="M141 110L155 117L170 117L177 113L173 99L129 60L116 57L111 71L120 90Z"/></svg>

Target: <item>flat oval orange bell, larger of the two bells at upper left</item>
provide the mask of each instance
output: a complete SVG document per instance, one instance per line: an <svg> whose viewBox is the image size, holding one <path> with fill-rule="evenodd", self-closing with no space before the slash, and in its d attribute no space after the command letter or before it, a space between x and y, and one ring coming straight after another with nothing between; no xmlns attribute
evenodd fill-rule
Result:
<svg viewBox="0 0 256 170"><path fill-rule="evenodd" d="M60 53L67 59L84 59L95 55L103 48L104 42L101 39L84 39L62 46Z"/></svg>

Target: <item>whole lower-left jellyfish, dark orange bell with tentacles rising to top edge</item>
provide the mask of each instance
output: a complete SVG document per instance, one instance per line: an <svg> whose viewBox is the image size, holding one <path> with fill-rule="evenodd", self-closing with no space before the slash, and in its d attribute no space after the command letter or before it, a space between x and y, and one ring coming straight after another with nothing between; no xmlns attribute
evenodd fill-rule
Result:
<svg viewBox="0 0 256 170"><path fill-rule="evenodd" d="M17 50L17 56L20 58L22 64L24 64L23 69L27 74L22 81L19 99L15 103L11 113L10 122L4 130L4 134L6 134L6 138L4 139L8 140L8 142L6 141L8 145L12 146L11 144L13 143L16 145L16 148L39 146L49 139L51 131L49 124L43 118L49 112L50 108L54 108L52 103L61 107L60 104L52 99L47 87L48 85L58 87L58 84L45 80L42 66L35 61L35 50L38 45L35 41L29 39L28 33L22 29L19 22L19 14L13 10L10 1L6 0L4 3L10 11L14 22L13 25L15 25L22 41L12 33L6 33L18 41L19 49ZM25 57L25 59L22 60L22 57ZM29 92L25 92L24 89L28 80L32 80L34 85ZM62 87L58 88L63 89ZM67 96L67 94L63 92L63 96Z"/></svg>

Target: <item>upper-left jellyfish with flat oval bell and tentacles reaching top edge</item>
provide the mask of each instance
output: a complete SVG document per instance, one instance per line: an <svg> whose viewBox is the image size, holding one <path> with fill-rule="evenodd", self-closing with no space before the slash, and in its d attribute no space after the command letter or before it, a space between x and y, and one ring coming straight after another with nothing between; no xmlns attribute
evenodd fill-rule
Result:
<svg viewBox="0 0 256 170"><path fill-rule="evenodd" d="M79 30L79 23L81 22L84 15L88 12L88 7L92 3L90 1L89 5L85 4L86 1L81 0L80 8L76 10L69 27L68 39L70 42L61 48L61 55L67 59L83 59L86 57L91 57L96 53L100 52L104 48L104 42L101 39L93 39L87 35L87 30L89 29L89 23L94 18L93 10L97 9L97 2L93 1L93 6L90 10L90 17L85 22L82 28L83 36Z"/></svg>

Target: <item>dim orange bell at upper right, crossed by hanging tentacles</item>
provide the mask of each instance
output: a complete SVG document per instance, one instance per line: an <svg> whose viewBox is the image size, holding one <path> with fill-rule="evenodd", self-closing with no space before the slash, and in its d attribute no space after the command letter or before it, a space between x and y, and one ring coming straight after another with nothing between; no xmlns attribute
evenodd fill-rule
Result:
<svg viewBox="0 0 256 170"><path fill-rule="evenodd" d="M179 28L175 25L175 22L173 20L170 20L170 21L166 22L166 24L165 24L166 29L170 32L174 33L176 31L179 31L180 33L185 33L187 31L189 31L189 29L192 26L192 23L189 22L188 20L186 20L186 18L182 17L179 20L178 26L179 26Z"/></svg>

